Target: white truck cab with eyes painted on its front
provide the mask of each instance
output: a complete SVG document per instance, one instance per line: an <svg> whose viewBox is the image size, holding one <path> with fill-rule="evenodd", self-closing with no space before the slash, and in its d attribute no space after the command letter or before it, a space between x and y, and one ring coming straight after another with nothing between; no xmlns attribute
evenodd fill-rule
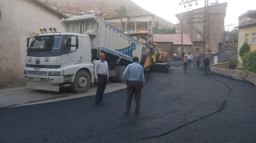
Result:
<svg viewBox="0 0 256 143"><path fill-rule="evenodd" d="M27 41L24 78L28 89L59 92L60 87L71 87L81 93L94 83L88 35L42 33Z"/></svg>

